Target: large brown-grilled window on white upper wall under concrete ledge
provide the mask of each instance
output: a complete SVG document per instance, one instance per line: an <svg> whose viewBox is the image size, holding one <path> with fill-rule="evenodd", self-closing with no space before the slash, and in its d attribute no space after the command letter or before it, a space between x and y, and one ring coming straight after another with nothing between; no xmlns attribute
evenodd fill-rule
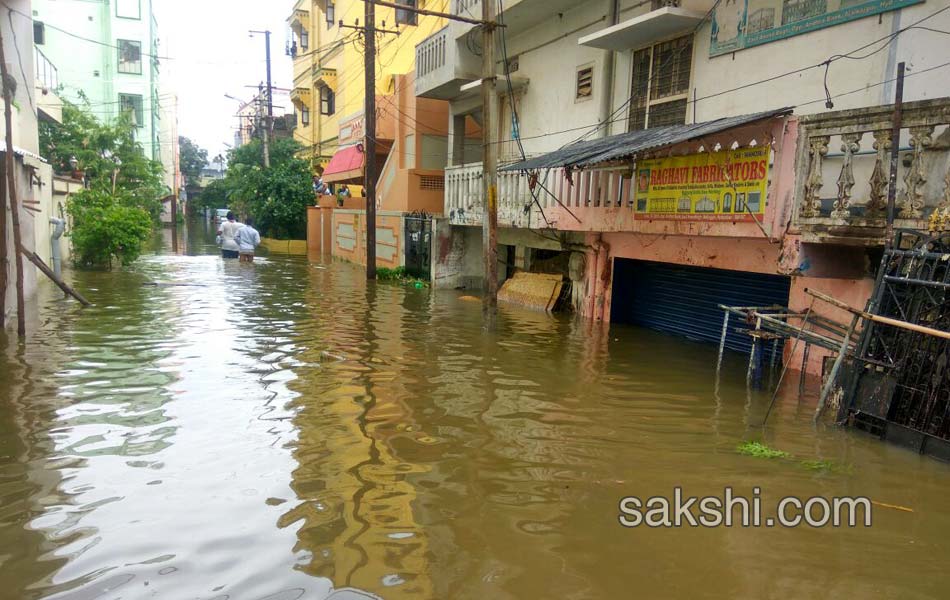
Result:
<svg viewBox="0 0 950 600"><path fill-rule="evenodd" d="M633 53L630 131L686 122L692 62L691 35Z"/></svg>

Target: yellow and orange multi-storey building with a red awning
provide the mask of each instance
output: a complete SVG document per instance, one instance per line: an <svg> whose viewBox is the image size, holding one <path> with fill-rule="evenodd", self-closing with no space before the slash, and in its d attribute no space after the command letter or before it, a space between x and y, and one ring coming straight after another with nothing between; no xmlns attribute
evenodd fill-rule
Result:
<svg viewBox="0 0 950 600"><path fill-rule="evenodd" d="M416 3L404 2L412 8ZM311 249L365 263L363 2L300 0L288 24L294 61L295 138L305 147L321 196L310 214ZM365 24L365 23L364 23ZM416 46L444 26L439 17L378 6L376 64L376 254L406 265L407 241L428 239L443 208L449 154L448 103L415 94ZM469 131L477 136L477 127ZM324 187L325 186L325 187ZM417 222L418 221L418 222ZM420 231L412 228L419 226ZM427 268L427 267L426 267Z"/></svg>

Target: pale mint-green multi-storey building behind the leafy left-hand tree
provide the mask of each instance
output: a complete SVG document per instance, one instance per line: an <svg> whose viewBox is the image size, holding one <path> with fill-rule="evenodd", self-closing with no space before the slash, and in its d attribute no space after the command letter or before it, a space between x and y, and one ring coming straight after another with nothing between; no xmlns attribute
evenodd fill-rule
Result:
<svg viewBox="0 0 950 600"><path fill-rule="evenodd" d="M173 153L162 147L177 127L162 120L177 120L176 102L159 84L152 0L36 0L32 14L37 47L59 67L63 98L88 101L103 120L131 113L146 156L175 173Z"/></svg>

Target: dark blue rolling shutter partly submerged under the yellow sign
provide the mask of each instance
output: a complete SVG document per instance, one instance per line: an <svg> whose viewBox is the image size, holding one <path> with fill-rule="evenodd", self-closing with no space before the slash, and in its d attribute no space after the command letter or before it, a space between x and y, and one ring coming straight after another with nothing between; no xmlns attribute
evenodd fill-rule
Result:
<svg viewBox="0 0 950 600"><path fill-rule="evenodd" d="M791 279L744 271L686 267L618 258L614 261L611 322L640 325L693 340L718 343L728 306L788 305ZM748 352L751 338L736 333L732 317L726 347Z"/></svg>

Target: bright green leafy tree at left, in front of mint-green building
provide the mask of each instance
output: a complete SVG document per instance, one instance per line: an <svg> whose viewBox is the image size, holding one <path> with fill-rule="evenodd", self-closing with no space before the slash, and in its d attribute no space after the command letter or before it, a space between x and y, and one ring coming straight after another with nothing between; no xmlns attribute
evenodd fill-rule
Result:
<svg viewBox="0 0 950 600"><path fill-rule="evenodd" d="M104 123L88 103L68 101L63 102L61 124L40 123L40 148L53 169L79 171L86 181L66 207L77 265L129 264L161 215L161 201L168 194L162 165L145 156L135 131L130 114Z"/></svg>

